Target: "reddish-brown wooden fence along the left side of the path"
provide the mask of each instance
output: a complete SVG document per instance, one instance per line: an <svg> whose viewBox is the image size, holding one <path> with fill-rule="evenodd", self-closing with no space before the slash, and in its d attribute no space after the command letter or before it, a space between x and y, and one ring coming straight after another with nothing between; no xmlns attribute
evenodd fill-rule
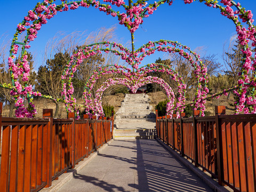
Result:
<svg viewBox="0 0 256 192"><path fill-rule="evenodd" d="M2 117L0 103L0 191L38 191L112 138L113 117L99 120ZM1 133L2 132L2 133Z"/></svg>

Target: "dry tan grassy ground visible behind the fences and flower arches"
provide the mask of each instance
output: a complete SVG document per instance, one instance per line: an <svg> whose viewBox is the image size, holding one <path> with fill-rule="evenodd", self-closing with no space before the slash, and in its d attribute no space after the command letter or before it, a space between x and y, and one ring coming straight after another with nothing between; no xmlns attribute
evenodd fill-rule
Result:
<svg viewBox="0 0 256 192"><path fill-rule="evenodd" d="M163 101L166 99L166 94L162 91L155 92L155 93L148 93L149 99L150 99L150 105L152 105L154 108L157 105L158 102ZM121 107L121 102L123 101L125 95L123 93L118 93L116 95L107 95L102 98L103 105L111 105L114 106L115 111L117 111ZM82 99L77 100L78 104L83 104ZM48 99L40 99L34 101L37 115L36 117L41 118L43 116L43 109L53 109L53 114L55 113L55 103ZM234 108L232 105L234 103L234 97L233 95L230 95L228 98L227 96L222 96L220 99L211 99L210 101L206 102L206 111L209 113L209 115L214 115L214 106L215 105L223 105L226 106L226 114L234 114ZM3 117L9 116L9 107L4 106L3 107ZM60 103L60 115L58 118L66 118L67 113L65 109L64 103Z"/></svg>

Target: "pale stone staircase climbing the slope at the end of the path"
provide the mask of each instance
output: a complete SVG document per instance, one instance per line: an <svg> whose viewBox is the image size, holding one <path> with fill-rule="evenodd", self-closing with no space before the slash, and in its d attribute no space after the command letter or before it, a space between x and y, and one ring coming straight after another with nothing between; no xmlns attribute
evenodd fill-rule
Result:
<svg viewBox="0 0 256 192"><path fill-rule="evenodd" d="M156 115L145 93L126 94L116 113L115 139L155 138Z"/></svg>

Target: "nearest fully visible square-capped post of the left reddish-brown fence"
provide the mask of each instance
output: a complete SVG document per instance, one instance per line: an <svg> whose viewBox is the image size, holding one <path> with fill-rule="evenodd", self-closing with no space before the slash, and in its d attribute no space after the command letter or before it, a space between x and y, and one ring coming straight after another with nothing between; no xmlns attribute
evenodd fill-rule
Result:
<svg viewBox="0 0 256 192"><path fill-rule="evenodd" d="M46 155L46 188L52 186L52 127L53 109L43 109L43 118L48 118L47 123L47 155Z"/></svg>

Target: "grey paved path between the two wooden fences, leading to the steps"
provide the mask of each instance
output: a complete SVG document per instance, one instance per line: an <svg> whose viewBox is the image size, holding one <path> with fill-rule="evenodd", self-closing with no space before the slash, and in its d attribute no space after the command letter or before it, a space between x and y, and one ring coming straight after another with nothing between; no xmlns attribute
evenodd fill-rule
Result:
<svg viewBox="0 0 256 192"><path fill-rule="evenodd" d="M65 191L212 191L156 140L114 140Z"/></svg>

